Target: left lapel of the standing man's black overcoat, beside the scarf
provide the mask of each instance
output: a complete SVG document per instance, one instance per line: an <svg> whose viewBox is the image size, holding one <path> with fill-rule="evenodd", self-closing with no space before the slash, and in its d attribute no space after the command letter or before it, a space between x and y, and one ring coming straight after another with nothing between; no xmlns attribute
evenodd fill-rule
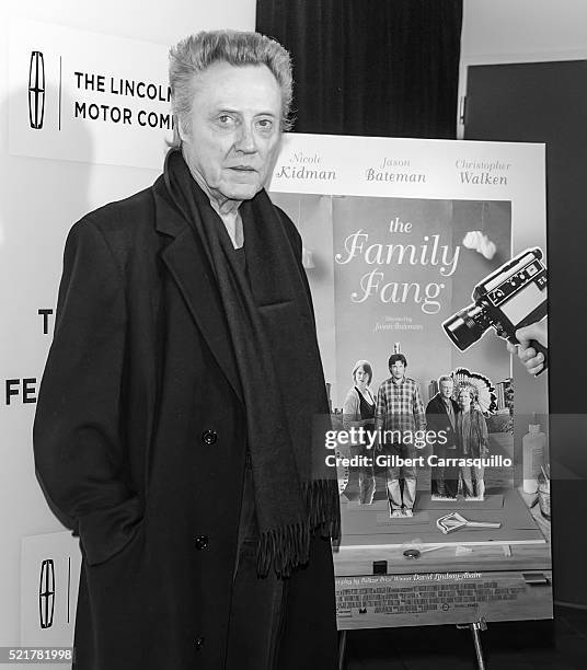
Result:
<svg viewBox="0 0 587 670"><path fill-rule="evenodd" d="M243 402L234 350L214 273L192 229L168 200L165 192L163 180L158 180L153 185L156 227L159 233L172 238L161 257L220 369Z"/></svg>

